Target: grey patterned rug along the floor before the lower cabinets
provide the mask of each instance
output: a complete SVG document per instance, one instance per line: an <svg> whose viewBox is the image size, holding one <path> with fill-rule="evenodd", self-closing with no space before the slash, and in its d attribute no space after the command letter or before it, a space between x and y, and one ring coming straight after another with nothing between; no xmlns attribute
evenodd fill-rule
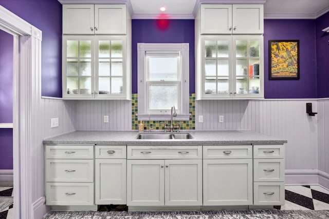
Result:
<svg viewBox="0 0 329 219"><path fill-rule="evenodd" d="M45 219L315 219L329 218L329 210L241 210L241 211L51 211Z"/></svg>

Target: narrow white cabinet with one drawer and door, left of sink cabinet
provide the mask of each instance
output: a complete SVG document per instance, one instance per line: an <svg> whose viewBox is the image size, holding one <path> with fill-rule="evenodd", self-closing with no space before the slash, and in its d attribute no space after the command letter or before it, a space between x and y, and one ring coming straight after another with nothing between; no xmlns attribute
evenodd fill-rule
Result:
<svg viewBox="0 0 329 219"><path fill-rule="evenodd" d="M126 146L95 146L95 204L126 204Z"/></svg>

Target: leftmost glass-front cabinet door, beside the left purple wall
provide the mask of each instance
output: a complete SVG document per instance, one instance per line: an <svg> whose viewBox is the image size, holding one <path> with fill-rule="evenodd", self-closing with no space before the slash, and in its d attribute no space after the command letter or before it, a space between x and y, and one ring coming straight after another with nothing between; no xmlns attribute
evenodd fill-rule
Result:
<svg viewBox="0 0 329 219"><path fill-rule="evenodd" d="M63 97L94 97L93 53L93 40L88 36L63 41Z"/></svg>

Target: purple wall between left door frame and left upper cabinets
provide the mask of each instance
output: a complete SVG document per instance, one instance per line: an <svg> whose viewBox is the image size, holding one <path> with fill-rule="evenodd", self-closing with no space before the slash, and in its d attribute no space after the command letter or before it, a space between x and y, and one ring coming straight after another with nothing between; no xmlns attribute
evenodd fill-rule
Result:
<svg viewBox="0 0 329 219"><path fill-rule="evenodd" d="M62 97L62 5L57 0L0 0L42 31L42 95Z"/></svg>

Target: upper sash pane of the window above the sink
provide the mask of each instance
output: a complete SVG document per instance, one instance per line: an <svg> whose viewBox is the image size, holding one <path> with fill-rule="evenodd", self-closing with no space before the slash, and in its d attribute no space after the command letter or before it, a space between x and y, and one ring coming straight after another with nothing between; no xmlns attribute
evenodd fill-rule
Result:
<svg viewBox="0 0 329 219"><path fill-rule="evenodd" d="M149 81L177 81L177 57L149 57Z"/></svg>

